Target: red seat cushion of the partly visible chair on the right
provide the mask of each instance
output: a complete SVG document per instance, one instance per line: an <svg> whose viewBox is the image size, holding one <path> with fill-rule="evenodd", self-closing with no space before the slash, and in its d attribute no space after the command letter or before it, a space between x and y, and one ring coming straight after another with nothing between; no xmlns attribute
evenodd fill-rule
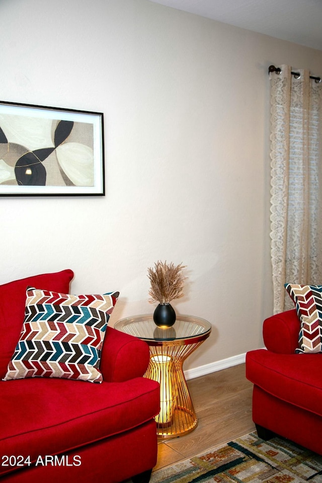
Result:
<svg viewBox="0 0 322 483"><path fill-rule="evenodd" d="M322 416L322 354L276 354L250 351L246 376L273 396Z"/></svg>

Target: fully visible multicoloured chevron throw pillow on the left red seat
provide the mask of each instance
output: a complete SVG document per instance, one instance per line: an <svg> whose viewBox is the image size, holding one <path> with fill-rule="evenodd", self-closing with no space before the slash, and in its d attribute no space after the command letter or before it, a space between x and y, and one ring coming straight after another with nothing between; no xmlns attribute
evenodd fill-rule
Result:
<svg viewBox="0 0 322 483"><path fill-rule="evenodd" d="M25 320L4 380L41 376L102 382L101 351L118 296L28 287Z"/></svg>

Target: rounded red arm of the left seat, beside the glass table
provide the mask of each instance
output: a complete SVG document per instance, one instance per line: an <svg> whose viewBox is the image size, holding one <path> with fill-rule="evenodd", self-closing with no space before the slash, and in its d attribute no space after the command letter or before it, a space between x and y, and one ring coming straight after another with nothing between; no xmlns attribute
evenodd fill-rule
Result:
<svg viewBox="0 0 322 483"><path fill-rule="evenodd" d="M107 327L100 365L105 381L122 382L142 377L149 357L146 342Z"/></svg>

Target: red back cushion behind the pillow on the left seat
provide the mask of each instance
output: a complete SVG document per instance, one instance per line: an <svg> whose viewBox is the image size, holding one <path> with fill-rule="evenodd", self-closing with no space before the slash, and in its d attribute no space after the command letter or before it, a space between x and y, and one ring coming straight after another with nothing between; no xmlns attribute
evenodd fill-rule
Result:
<svg viewBox="0 0 322 483"><path fill-rule="evenodd" d="M68 293L72 270L35 275L0 285L0 379L7 372L25 318L26 289L28 286Z"/></svg>

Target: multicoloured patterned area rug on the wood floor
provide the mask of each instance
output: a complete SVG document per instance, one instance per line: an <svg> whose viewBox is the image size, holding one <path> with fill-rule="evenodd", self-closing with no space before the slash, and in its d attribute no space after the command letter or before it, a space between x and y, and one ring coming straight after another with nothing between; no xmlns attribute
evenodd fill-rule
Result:
<svg viewBox="0 0 322 483"><path fill-rule="evenodd" d="M322 483L322 456L290 441L251 433L159 469L150 483Z"/></svg>

